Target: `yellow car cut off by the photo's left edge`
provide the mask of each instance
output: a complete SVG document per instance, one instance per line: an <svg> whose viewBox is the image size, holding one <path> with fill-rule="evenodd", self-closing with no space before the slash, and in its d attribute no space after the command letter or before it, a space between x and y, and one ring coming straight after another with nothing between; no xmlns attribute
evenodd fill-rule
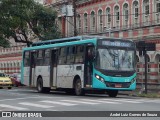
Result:
<svg viewBox="0 0 160 120"><path fill-rule="evenodd" d="M8 76L6 76L3 72L0 72L0 88L12 88L11 79Z"/></svg>

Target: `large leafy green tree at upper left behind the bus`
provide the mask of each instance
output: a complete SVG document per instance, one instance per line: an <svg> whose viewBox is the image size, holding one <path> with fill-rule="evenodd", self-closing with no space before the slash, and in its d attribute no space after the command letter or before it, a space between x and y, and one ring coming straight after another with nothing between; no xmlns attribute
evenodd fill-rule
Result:
<svg viewBox="0 0 160 120"><path fill-rule="evenodd" d="M7 47L10 38L30 46L33 39L60 37L53 8L34 0L0 0L0 10L0 46Z"/></svg>

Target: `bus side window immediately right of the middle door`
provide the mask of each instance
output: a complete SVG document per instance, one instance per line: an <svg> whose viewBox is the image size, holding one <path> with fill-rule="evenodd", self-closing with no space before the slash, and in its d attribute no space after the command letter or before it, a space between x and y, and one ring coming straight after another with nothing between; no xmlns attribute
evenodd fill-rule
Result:
<svg viewBox="0 0 160 120"><path fill-rule="evenodd" d="M60 48L58 64L66 64L66 47Z"/></svg>

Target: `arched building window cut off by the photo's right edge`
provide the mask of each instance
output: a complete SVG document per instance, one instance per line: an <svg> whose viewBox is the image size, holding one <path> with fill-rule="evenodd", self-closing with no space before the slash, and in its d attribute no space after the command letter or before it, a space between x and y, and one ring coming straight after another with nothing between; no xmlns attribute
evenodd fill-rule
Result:
<svg viewBox="0 0 160 120"><path fill-rule="evenodd" d="M160 0L155 1L155 15L156 22L160 23Z"/></svg>

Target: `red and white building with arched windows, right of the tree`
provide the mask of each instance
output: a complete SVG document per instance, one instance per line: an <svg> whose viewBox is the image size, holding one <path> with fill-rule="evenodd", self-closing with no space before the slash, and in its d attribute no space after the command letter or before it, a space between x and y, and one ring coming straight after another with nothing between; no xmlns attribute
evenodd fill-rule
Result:
<svg viewBox="0 0 160 120"><path fill-rule="evenodd" d="M45 0L59 7L74 0ZM61 4L58 4L61 3ZM59 5L59 6L58 6ZM148 84L160 84L160 0L78 0L75 16L59 16L65 37L74 34L74 17L78 35L96 34L155 43L156 51L147 52ZM144 82L144 60L137 52L138 83Z"/></svg>

